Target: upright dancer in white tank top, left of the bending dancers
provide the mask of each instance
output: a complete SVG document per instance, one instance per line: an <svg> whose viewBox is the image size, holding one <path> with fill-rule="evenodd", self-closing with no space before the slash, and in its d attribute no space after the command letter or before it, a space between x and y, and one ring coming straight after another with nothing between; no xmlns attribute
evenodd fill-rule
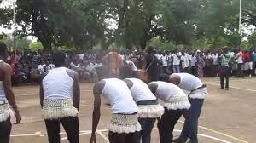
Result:
<svg viewBox="0 0 256 143"><path fill-rule="evenodd" d="M61 123L69 142L79 143L79 74L64 67L65 54L53 54L53 63L55 68L46 74L40 88L48 140L49 143L60 142Z"/></svg>

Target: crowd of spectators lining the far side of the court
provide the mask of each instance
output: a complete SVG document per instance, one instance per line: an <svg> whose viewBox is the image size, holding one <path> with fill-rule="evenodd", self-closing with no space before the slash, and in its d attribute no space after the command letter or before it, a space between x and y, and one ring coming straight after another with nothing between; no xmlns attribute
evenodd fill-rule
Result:
<svg viewBox="0 0 256 143"><path fill-rule="evenodd" d="M117 77L121 66L129 61L134 68L142 68L142 60L146 51L108 51L95 52L67 52L66 66L79 72L82 82L96 82L98 67L108 65ZM222 54L218 51L156 51L154 58L157 60L159 73L171 74L173 72L188 72L197 77L218 77ZM255 76L256 53L255 49L229 49L230 76L246 77ZM8 63L12 66L13 83L37 83L41 76L49 72L52 64L52 52L39 50L37 52L25 51L24 53L9 53Z"/></svg>

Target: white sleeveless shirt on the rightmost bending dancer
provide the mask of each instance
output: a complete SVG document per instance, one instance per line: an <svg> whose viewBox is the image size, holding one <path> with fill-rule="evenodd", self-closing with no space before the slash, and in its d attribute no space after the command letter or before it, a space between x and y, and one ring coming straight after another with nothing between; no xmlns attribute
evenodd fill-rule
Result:
<svg viewBox="0 0 256 143"><path fill-rule="evenodd" d="M183 90L192 91L194 89L200 88L203 83L198 77L195 77L189 73L173 73L180 77L180 83L178 87Z"/></svg>

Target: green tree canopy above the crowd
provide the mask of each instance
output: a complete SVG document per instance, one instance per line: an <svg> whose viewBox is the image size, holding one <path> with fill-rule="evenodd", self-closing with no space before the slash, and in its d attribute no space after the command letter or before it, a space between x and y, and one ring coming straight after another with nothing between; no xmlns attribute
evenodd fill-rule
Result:
<svg viewBox="0 0 256 143"><path fill-rule="evenodd" d="M256 26L256 1L242 6L242 26ZM17 0L16 9L19 36L37 37L44 49L144 49L152 41L167 43L163 49L238 47L247 36L238 34L237 0ZM0 25L10 26L12 14L1 7Z"/></svg>

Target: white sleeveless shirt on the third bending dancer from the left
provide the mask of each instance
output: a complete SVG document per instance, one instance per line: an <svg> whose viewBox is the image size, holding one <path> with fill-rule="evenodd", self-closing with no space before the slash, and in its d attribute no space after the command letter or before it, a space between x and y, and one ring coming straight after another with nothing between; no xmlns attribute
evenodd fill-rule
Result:
<svg viewBox="0 0 256 143"><path fill-rule="evenodd" d="M157 83L157 89L155 95L157 95L160 100L169 102L173 96L187 96L182 89L177 87L177 85L166 82L152 82ZM150 84L150 83L149 83Z"/></svg>

